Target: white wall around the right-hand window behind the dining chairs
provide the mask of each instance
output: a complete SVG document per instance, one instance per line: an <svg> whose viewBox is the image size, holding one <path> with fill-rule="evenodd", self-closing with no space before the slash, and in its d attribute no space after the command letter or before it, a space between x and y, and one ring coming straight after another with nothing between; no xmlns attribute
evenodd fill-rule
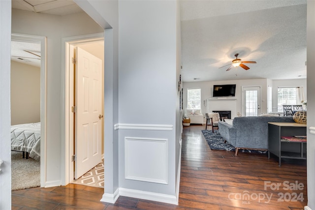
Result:
<svg viewBox="0 0 315 210"><path fill-rule="evenodd" d="M273 80L272 81L272 112L278 112L278 88L289 88L289 87L303 87L304 97L307 100L307 80L296 79L296 80ZM279 113L279 114L283 114Z"/></svg>

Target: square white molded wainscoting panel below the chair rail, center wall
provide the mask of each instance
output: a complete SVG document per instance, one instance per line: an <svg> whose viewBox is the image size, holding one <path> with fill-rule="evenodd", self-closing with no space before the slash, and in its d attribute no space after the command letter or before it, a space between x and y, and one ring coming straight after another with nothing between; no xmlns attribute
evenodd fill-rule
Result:
<svg viewBox="0 0 315 210"><path fill-rule="evenodd" d="M167 139L125 137L125 179L167 184Z"/></svg>

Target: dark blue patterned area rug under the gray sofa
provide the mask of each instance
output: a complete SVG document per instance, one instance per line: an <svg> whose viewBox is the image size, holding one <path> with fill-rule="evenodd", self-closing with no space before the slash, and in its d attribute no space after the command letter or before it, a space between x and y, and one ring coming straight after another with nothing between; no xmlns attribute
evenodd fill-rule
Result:
<svg viewBox="0 0 315 210"><path fill-rule="evenodd" d="M226 151L235 151L235 147L229 143L224 143L223 137L220 135L218 130L202 130L202 134L207 140L207 143L211 150L226 150ZM250 152L250 153L266 153L266 150L245 150L240 149L239 152Z"/></svg>

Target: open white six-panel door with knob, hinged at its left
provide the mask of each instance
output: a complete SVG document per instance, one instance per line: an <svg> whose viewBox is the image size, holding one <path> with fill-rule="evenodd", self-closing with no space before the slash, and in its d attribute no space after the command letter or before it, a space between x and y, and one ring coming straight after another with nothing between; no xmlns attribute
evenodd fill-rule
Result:
<svg viewBox="0 0 315 210"><path fill-rule="evenodd" d="M76 47L75 179L101 162L102 61Z"/></svg>

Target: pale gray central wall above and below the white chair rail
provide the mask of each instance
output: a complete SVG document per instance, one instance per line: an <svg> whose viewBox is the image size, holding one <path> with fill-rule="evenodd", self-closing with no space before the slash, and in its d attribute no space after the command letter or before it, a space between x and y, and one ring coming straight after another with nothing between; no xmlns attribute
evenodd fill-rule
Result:
<svg viewBox="0 0 315 210"><path fill-rule="evenodd" d="M119 123L173 126L172 130L122 129L119 132L120 179L122 188L175 196L176 185L176 112L179 108L177 81L177 2L120 1L119 3ZM165 171L167 183L155 180L125 179L125 137L167 139L166 153L157 165L146 162L153 154L146 150L155 144L139 143L139 159L132 162L139 176L152 177ZM161 143L160 143L161 144ZM125 151L126 149L126 151ZM125 153L126 152L126 153ZM178 154L178 153L177 153ZM142 158L140 158L142 157ZM159 162L166 158L166 162ZM128 160L129 161L129 160ZM136 196L136 194L130 194Z"/></svg>

